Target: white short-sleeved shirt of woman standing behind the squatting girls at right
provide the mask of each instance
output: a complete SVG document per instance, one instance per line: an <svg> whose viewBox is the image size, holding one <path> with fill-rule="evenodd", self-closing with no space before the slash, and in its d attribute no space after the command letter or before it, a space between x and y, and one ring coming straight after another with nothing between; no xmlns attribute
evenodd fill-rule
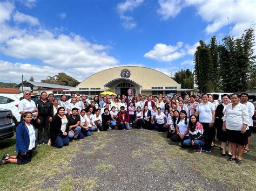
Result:
<svg viewBox="0 0 256 191"><path fill-rule="evenodd" d="M199 103L197 105L197 111L199 111L199 122L210 123L212 121L212 111L215 110L215 105L211 102Z"/></svg>

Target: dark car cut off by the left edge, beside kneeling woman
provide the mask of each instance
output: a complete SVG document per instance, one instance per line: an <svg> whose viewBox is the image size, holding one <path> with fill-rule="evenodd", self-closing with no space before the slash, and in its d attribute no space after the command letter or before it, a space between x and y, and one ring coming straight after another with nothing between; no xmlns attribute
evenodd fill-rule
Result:
<svg viewBox="0 0 256 191"><path fill-rule="evenodd" d="M11 110L0 109L0 140L14 136L14 128Z"/></svg>

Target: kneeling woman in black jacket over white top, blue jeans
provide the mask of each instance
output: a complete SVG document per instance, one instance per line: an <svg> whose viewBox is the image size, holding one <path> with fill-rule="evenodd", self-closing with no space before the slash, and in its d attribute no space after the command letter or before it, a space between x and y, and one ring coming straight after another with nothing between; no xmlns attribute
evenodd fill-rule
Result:
<svg viewBox="0 0 256 191"><path fill-rule="evenodd" d="M52 125L50 128L50 137L52 146L62 148L69 145L69 120L64 114L65 108L58 108L57 114L52 119Z"/></svg>

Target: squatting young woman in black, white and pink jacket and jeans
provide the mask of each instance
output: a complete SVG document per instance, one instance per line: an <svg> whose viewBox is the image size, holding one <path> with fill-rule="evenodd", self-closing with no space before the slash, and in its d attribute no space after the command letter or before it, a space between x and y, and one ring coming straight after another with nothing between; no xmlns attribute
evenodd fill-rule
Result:
<svg viewBox="0 0 256 191"><path fill-rule="evenodd" d="M203 125L197 121L196 116L192 115L188 122L188 128L190 129L190 138L184 140L183 145L194 145L197 148L197 153L201 153L202 147L205 144Z"/></svg>

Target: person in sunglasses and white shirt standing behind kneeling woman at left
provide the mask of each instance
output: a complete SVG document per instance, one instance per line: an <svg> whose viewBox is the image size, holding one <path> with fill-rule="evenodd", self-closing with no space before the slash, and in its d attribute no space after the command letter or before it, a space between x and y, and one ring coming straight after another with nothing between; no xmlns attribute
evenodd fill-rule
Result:
<svg viewBox="0 0 256 191"><path fill-rule="evenodd" d="M26 90L23 92L24 99L19 101L19 114L23 115L26 111L30 111L32 113L32 123L36 124L36 119L38 116L38 110L36 107L36 103L31 100L30 91ZM23 117L21 117L21 121L23 121Z"/></svg>

